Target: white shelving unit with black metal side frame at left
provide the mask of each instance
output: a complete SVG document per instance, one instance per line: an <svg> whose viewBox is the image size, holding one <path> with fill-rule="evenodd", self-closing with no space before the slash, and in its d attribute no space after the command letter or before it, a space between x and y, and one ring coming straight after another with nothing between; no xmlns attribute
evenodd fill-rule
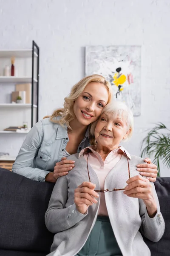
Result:
<svg viewBox="0 0 170 256"><path fill-rule="evenodd" d="M16 76L3 76L6 65L10 67L11 57L15 58ZM11 103L11 92L16 84L30 84L30 104ZM17 153L30 128L38 121L39 93L39 47L33 41L32 49L0 50L0 152L9 156L0 160L15 160ZM9 126L28 123L27 131L4 131ZM15 134L15 135L14 135ZM18 135L16 135L18 134ZM22 135L21 135L22 134ZM3 143L4 142L4 143ZM12 157L11 157L12 156Z"/></svg>

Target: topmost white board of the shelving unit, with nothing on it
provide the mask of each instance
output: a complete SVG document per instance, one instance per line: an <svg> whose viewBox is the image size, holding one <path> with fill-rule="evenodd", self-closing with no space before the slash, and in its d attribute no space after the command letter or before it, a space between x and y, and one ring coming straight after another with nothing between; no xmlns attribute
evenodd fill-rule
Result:
<svg viewBox="0 0 170 256"><path fill-rule="evenodd" d="M37 53L34 52L34 55L37 57ZM32 57L32 49L16 49L16 50L0 50L0 58L30 58Z"/></svg>

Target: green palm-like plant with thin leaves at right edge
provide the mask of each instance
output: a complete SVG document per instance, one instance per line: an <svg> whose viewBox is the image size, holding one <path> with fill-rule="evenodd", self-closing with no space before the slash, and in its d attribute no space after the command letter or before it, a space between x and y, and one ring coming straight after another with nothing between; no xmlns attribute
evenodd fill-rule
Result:
<svg viewBox="0 0 170 256"><path fill-rule="evenodd" d="M161 122L156 124L142 140L141 150L141 157L144 155L154 157L153 163L157 165L158 176L160 177L160 160L170 168L170 130Z"/></svg>

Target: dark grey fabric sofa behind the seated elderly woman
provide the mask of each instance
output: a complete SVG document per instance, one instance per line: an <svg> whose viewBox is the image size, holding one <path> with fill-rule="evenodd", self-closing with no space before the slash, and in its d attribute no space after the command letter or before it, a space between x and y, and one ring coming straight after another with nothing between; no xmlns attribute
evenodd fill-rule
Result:
<svg viewBox="0 0 170 256"><path fill-rule="evenodd" d="M44 215L53 187L0 168L0 256L50 252L54 234L46 229ZM170 177L157 178L155 187L166 227L159 242L145 241L152 256L170 256Z"/></svg>

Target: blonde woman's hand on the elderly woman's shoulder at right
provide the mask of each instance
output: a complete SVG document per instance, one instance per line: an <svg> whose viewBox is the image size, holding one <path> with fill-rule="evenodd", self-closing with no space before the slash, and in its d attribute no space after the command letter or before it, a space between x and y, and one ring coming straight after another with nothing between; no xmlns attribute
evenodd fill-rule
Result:
<svg viewBox="0 0 170 256"><path fill-rule="evenodd" d="M148 157L144 159L144 162L146 163L136 165L137 171L142 176L146 176L149 181L155 182L158 173L157 166Z"/></svg>

